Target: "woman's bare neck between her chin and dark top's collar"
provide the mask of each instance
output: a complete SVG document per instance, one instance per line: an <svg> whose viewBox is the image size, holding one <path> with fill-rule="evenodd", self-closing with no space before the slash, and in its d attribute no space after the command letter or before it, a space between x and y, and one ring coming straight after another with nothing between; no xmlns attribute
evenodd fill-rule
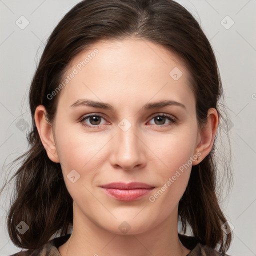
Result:
<svg viewBox="0 0 256 256"><path fill-rule="evenodd" d="M190 250L178 238L175 209L162 223L144 232L117 234L95 225L76 206L72 234L58 250L61 256L185 256Z"/></svg>

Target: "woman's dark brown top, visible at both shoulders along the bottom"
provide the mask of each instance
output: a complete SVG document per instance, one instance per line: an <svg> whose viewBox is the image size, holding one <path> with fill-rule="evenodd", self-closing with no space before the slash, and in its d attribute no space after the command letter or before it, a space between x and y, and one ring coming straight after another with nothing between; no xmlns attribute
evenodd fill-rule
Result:
<svg viewBox="0 0 256 256"><path fill-rule="evenodd" d="M69 238L70 234L66 234L60 237L55 237L45 243L41 248L34 250L23 250L12 254L10 256L61 256L58 247L65 243ZM214 248L207 245L203 245L196 242L194 237L187 236L183 234L178 234L179 240L182 244L190 250L186 256L220 256L221 254ZM227 254L222 254L221 256L228 256Z"/></svg>

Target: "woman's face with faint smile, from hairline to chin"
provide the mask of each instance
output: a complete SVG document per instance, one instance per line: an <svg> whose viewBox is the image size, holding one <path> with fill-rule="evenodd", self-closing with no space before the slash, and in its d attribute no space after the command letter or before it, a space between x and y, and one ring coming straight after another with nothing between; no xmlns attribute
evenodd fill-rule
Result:
<svg viewBox="0 0 256 256"><path fill-rule="evenodd" d="M120 234L176 221L191 165L198 163L195 98L185 66L162 46L126 39L95 43L65 75L55 157L74 218ZM153 104L159 101L170 102ZM150 188L102 187L112 182Z"/></svg>

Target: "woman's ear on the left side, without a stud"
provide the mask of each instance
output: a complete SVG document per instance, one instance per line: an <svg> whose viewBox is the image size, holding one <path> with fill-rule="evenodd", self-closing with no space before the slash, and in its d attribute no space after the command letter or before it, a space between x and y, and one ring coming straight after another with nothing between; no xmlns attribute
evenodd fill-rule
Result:
<svg viewBox="0 0 256 256"><path fill-rule="evenodd" d="M46 110L43 105L38 105L36 107L34 121L48 157L53 162L59 162L53 137L53 129L51 124L46 119Z"/></svg>

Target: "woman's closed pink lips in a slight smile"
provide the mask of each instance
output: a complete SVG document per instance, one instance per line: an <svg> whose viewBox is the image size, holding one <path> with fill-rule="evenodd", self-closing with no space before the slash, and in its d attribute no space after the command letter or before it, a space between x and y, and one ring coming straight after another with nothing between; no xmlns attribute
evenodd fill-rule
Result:
<svg viewBox="0 0 256 256"><path fill-rule="evenodd" d="M112 182L100 186L103 191L120 201L137 200L150 193L154 186L142 182Z"/></svg>

